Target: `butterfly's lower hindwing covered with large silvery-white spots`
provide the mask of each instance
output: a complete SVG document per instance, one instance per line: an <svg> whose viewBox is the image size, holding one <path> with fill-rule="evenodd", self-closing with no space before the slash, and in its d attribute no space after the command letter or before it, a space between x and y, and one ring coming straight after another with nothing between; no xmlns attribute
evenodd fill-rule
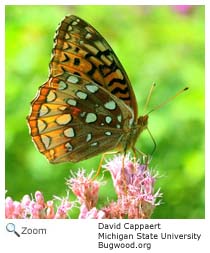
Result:
<svg viewBox="0 0 210 253"><path fill-rule="evenodd" d="M133 119L132 110L109 91L64 72L40 87L28 123L39 151L60 163L121 148Z"/></svg>

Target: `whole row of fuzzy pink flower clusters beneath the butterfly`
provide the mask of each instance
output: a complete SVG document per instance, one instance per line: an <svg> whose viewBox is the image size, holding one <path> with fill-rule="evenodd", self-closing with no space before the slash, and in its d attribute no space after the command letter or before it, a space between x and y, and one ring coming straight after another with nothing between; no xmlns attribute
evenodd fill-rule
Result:
<svg viewBox="0 0 210 253"><path fill-rule="evenodd" d="M6 198L6 218L21 219L65 219L69 218L72 208L80 209L80 219L121 219L150 218L154 208L160 204L157 201L162 196L160 191L154 191L157 175L148 168L148 161L140 163L134 158L115 156L104 168L111 173L117 199L110 201L100 209L96 206L99 199L99 189L103 180L93 180L93 172L89 176L84 170L67 180L67 186L76 196L75 201L69 197L45 201L42 193L37 191L35 198L25 195L20 202ZM59 205L56 206L56 201Z"/></svg>

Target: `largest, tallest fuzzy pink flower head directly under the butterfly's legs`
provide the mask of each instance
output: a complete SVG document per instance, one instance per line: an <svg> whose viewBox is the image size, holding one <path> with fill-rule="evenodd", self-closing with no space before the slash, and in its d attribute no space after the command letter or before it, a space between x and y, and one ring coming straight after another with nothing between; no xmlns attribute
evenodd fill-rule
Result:
<svg viewBox="0 0 210 253"><path fill-rule="evenodd" d="M154 194L156 176L152 175L146 164L131 159L129 155L116 156L105 166L110 171L118 195L103 210L107 218L149 218L161 194Z"/></svg>

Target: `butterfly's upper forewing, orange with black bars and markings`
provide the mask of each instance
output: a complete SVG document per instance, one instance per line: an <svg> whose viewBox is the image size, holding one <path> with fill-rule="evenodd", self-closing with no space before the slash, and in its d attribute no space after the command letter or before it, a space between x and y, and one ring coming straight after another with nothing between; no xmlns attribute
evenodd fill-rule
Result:
<svg viewBox="0 0 210 253"><path fill-rule="evenodd" d="M136 98L128 76L112 48L91 25L67 16L54 40L50 77L67 71L95 82L130 106L137 119Z"/></svg>

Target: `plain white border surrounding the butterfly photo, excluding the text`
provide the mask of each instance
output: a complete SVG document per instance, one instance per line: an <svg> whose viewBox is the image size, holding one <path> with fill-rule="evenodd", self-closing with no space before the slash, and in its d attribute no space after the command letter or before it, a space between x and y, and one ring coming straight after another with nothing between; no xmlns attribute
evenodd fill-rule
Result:
<svg viewBox="0 0 210 253"><path fill-rule="evenodd" d="M99 5L99 1L67 1L67 0L60 0L60 1L49 1L49 0L4 0L0 2L0 34L5 34L5 5ZM100 1L100 5L127 5L127 1ZM177 5L177 4L190 4L190 5L206 5L206 45L210 45L209 39L209 6L208 1L134 1L130 0L129 5ZM15 250L18 252L49 252L49 251L61 251L66 250L67 252L82 252L82 250L97 250L96 248L96 240L97 240L97 220L18 220L16 221L17 228L23 225L27 225L30 222L31 226L39 226L39 227L47 227L49 233L47 236L26 236L22 237L21 240L16 238L15 236L11 235L10 233L5 232L5 225L8 220L2 220L4 217L4 189L5 189L5 182L4 182L4 139L5 139L5 129L4 129L4 108L5 108L5 97L4 97L4 83L5 83L5 69L4 69L4 56L5 55L5 47L4 47L4 35L0 36L0 68L1 68L1 81L0 81L0 119L1 119L1 129L0 129L0 161L1 161L1 175L0 175L0 250L5 250L5 252L14 252ZM206 66L209 62L209 48L206 47ZM209 150L209 73L206 72L206 150L208 153ZM209 157L206 156L206 219L204 220L161 220L160 222L163 224L164 228L168 231L196 231L202 232L202 241L200 244L194 243L176 243L176 241L168 242L167 244L163 244L162 242L155 243L154 251L150 250L150 252L186 252L192 250L206 252L208 247L208 238L207 235L209 232L207 231L207 227L209 230ZM109 221L114 222L114 221ZM115 221L119 222L119 221ZM122 221L123 222L123 221ZM136 222L136 221L135 221ZM147 220L141 221L141 223L154 223L156 220ZM56 224L56 225L55 225ZM3 239L4 238L4 239ZM110 252L110 250L99 250L100 252ZM98 252L97 251L97 252ZM135 250L133 250L134 252ZM121 252L119 250L113 250L112 252ZM124 250L124 252L126 252ZM132 252L132 251L129 251ZM140 252L135 251L135 252ZM148 252L147 250L141 250L141 252Z"/></svg>

